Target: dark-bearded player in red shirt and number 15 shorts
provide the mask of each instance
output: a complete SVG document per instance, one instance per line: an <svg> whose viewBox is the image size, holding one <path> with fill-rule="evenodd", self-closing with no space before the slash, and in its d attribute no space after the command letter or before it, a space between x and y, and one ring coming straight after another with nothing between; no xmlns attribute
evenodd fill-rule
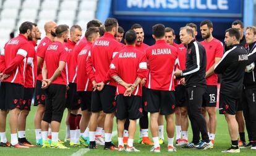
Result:
<svg viewBox="0 0 256 156"><path fill-rule="evenodd" d="M207 121L209 131L209 139L214 144L216 131L216 100L217 100L217 84L218 75L214 73L214 67L220 62L223 55L223 44L218 39L213 38L213 23L210 20L203 20L200 23L200 31L204 41L200 42L205 47L207 54L207 68L205 78L207 81L207 89L203 94L202 113ZM209 120L207 118L209 115Z"/></svg>

